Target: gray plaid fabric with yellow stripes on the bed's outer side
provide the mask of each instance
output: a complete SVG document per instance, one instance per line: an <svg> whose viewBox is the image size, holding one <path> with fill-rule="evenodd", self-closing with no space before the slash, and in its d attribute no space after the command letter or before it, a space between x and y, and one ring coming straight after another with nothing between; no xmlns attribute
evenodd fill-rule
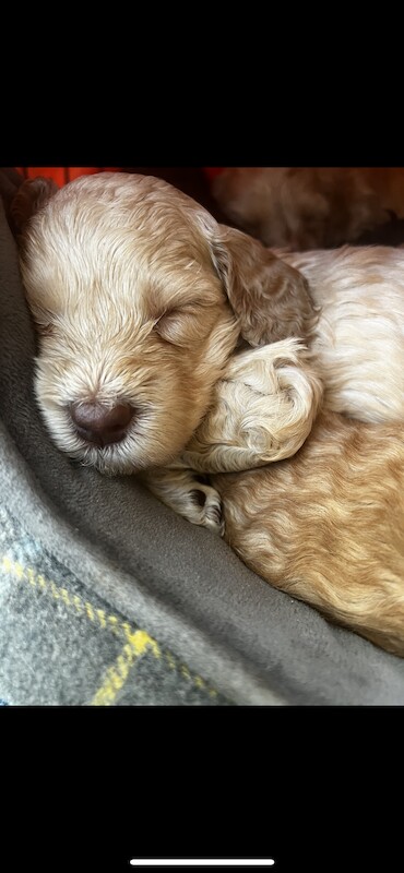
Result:
<svg viewBox="0 0 404 873"><path fill-rule="evenodd" d="M88 589L0 506L0 687L43 705L228 701Z"/></svg>

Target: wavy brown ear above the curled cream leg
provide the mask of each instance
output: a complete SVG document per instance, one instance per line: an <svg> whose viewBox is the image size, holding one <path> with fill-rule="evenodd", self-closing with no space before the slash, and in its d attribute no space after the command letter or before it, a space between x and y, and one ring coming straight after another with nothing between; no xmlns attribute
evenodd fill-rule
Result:
<svg viewBox="0 0 404 873"><path fill-rule="evenodd" d="M317 321L305 277L261 242L218 225L213 259L241 336L262 346L289 336L306 338Z"/></svg>

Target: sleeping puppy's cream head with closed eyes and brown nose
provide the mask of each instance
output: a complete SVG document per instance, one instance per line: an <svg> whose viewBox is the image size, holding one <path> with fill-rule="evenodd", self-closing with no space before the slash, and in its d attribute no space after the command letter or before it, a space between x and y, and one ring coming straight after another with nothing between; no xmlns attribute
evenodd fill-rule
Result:
<svg viewBox="0 0 404 873"><path fill-rule="evenodd" d="M238 336L251 339L237 311L237 244L153 177L99 174L56 193L36 180L21 187L13 214L39 335L36 395L54 440L106 473L169 464ZM265 287L278 285L280 264L299 287L292 267L263 248L261 259L252 273L264 270ZM249 263L251 287L252 273Z"/></svg>

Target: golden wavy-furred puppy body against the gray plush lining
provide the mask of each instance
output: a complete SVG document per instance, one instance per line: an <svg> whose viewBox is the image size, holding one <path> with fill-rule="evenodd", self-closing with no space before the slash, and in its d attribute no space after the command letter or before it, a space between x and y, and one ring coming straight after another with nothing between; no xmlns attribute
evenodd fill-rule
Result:
<svg viewBox="0 0 404 873"><path fill-rule="evenodd" d="M251 570L404 656L404 424L320 414L292 459L212 481Z"/></svg>

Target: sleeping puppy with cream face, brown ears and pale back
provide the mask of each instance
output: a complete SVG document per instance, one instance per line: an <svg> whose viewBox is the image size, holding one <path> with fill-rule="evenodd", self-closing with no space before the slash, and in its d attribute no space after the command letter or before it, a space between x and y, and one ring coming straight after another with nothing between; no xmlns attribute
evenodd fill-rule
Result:
<svg viewBox="0 0 404 873"><path fill-rule="evenodd" d="M39 332L38 404L60 449L82 463L111 474L173 464L240 340L300 338L292 364L306 373L306 343L326 409L404 419L403 249L281 260L166 182L127 174L56 192L26 182L13 215Z"/></svg>

